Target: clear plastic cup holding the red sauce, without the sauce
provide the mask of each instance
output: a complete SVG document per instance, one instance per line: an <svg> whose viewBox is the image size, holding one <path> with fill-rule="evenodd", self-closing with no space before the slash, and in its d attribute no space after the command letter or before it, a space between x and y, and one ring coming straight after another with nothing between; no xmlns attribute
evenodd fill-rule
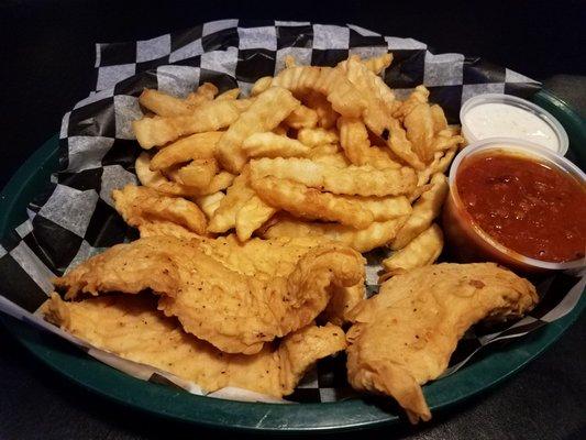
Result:
<svg viewBox="0 0 586 440"><path fill-rule="evenodd" d="M476 142L462 150L455 157L450 170L450 193L442 215L443 231L451 252L462 262L493 261L522 273L540 273L586 266L586 258L564 263L552 263L530 258L497 242L476 224L466 211L457 191L456 175L464 158L480 153L500 152L521 154L571 174L577 182L586 185L586 175L575 164L559 153L541 145L511 138L493 138Z"/></svg>

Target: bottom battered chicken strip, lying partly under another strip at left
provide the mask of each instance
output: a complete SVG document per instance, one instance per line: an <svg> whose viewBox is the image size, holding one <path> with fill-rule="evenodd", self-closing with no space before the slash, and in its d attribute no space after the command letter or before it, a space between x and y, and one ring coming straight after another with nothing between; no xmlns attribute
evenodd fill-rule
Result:
<svg viewBox="0 0 586 440"><path fill-rule="evenodd" d="M310 324L288 334L276 350L265 345L250 356L222 353L158 312L151 295L68 302L53 294L42 311L45 319L98 349L169 372L210 393L235 386L283 397L294 392L316 361L345 348L339 327Z"/></svg>

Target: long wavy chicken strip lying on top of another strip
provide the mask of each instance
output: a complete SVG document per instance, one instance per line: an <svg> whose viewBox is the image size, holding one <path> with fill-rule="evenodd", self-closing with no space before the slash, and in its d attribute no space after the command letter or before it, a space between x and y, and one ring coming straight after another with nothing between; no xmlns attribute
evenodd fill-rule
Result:
<svg viewBox="0 0 586 440"><path fill-rule="evenodd" d="M187 332L228 353L254 354L264 342L309 324L328 305L330 286L353 286L363 274L362 255L340 244L306 253L288 276L263 279L218 264L198 240L150 237L109 249L55 285L68 299L151 288L161 295L158 308Z"/></svg>

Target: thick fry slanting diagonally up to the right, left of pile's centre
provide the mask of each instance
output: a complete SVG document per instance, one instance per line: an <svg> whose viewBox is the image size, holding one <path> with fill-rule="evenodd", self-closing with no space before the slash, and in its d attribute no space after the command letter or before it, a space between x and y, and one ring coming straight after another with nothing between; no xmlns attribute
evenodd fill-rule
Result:
<svg viewBox="0 0 586 440"><path fill-rule="evenodd" d="M232 173L240 172L246 163L242 151L244 140L254 133L273 130L299 106L291 92L280 87L272 87L258 95L220 139L217 156L222 166Z"/></svg>

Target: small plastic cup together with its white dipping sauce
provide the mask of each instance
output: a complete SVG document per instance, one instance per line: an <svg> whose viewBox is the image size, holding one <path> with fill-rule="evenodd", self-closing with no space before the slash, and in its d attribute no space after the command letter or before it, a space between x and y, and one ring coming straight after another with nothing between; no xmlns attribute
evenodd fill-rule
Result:
<svg viewBox="0 0 586 440"><path fill-rule="evenodd" d="M515 138L562 156L567 152L568 139L562 124L541 107L511 95L486 94L468 99L460 110L460 121L468 144L490 138ZM549 142L544 135L550 138Z"/></svg>

